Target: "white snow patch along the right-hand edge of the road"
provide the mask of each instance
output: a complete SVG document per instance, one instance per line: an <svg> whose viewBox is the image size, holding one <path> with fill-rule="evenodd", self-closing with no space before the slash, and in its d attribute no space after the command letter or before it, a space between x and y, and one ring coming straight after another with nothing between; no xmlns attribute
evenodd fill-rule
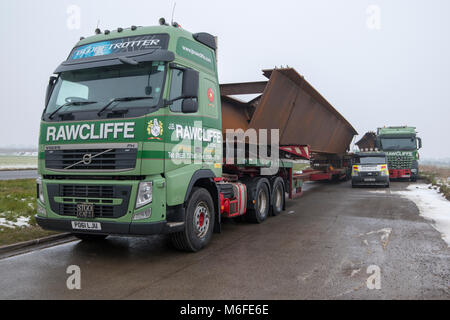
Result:
<svg viewBox="0 0 450 320"><path fill-rule="evenodd" d="M407 191L392 193L413 201L419 208L420 215L433 221L431 225L441 233L442 239L450 247L450 201L429 187L426 184L410 184Z"/></svg>

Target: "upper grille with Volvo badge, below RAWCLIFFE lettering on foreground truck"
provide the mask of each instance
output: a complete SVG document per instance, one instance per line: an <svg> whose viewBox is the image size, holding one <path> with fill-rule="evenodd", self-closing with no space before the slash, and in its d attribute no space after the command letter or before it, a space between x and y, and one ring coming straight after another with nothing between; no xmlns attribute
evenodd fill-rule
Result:
<svg viewBox="0 0 450 320"><path fill-rule="evenodd" d="M45 167L56 170L131 170L137 148L62 149L45 151Z"/></svg>

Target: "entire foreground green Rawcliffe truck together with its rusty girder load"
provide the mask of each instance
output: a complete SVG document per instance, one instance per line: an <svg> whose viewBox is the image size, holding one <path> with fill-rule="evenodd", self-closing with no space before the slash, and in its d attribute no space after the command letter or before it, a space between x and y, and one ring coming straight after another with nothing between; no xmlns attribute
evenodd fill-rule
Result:
<svg viewBox="0 0 450 320"><path fill-rule="evenodd" d="M261 223L305 181L349 177L356 131L294 69L220 85L208 33L164 20L96 33L50 77L41 227L84 240L167 233L176 248L198 251L223 218ZM265 132L267 141L252 141ZM311 168L299 172L296 160Z"/></svg>

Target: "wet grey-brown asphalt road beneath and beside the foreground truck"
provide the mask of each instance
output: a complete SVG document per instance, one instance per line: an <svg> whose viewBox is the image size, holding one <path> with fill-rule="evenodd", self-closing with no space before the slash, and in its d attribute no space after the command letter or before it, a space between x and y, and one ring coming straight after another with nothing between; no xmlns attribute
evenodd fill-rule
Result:
<svg viewBox="0 0 450 320"><path fill-rule="evenodd" d="M80 290L66 287L69 265ZM349 183L315 185L261 225L228 222L195 254L110 237L0 260L1 299L450 299L449 285L450 249L415 204Z"/></svg>

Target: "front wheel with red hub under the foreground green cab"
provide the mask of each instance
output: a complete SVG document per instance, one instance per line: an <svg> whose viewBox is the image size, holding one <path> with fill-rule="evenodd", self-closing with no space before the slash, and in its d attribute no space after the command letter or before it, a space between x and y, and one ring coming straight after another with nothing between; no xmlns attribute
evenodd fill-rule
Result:
<svg viewBox="0 0 450 320"><path fill-rule="evenodd" d="M206 189L194 188L187 202L184 230L171 235L175 248L196 252L205 247L214 228L214 204Z"/></svg>

